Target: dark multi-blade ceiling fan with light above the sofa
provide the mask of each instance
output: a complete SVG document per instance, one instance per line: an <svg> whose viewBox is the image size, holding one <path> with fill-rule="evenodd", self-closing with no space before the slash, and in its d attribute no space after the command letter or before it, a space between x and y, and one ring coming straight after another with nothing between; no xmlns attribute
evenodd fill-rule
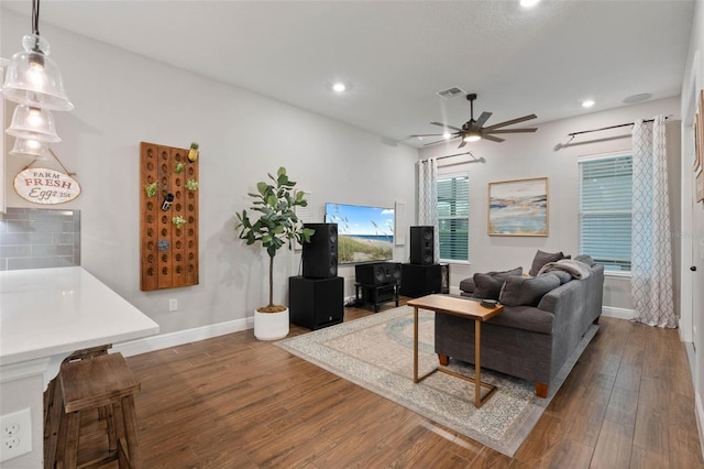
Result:
<svg viewBox="0 0 704 469"><path fill-rule="evenodd" d="M502 129L504 127L507 126L513 126L515 123L519 123L519 122L524 122L530 119L536 119L538 116L536 114L528 114L528 116L524 116L524 117L519 117L516 119L512 119L512 120L507 120L504 122L499 122L499 123L495 123L493 126L488 126L488 127L484 127L484 124L486 123L486 121L488 120L488 118L492 117L491 112L484 111L482 112L482 114L480 116L479 119L474 120L474 100L476 99L476 94L472 92L470 95L466 95L466 100L470 101L470 120L464 122L462 124L462 128L458 128L458 127L453 127L453 126L449 126L447 123L442 123L442 122L430 122L433 126L439 126L442 127L443 129L448 130L454 130L454 132L450 133L450 137L447 138L448 133L424 133L424 134L416 134L416 135L410 135L410 137L446 137L446 140L452 140L452 139L457 139L457 138L461 138L462 142L460 143L460 146L458 148L462 148L464 145L466 145L468 142L475 142L477 140L482 140L482 139L486 139L486 140L491 140L492 142L503 142L504 139L496 137L496 133L517 133L517 132L535 132L536 130L538 130L538 128L528 128L528 129ZM449 132L449 131L448 131ZM433 145L436 143L440 143L442 142L442 140L439 140L437 142L431 142L431 143L426 143L427 145Z"/></svg>

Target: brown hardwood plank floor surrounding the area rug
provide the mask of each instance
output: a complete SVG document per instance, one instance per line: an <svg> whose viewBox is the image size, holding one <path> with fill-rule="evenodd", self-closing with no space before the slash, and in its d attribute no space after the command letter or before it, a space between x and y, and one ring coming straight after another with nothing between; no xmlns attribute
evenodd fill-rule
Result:
<svg viewBox="0 0 704 469"><path fill-rule="evenodd" d="M345 320L369 314L345 308ZM131 357L144 467L704 468L676 330L600 326L514 458L251 330ZM81 456L98 450L96 434L81 438Z"/></svg>

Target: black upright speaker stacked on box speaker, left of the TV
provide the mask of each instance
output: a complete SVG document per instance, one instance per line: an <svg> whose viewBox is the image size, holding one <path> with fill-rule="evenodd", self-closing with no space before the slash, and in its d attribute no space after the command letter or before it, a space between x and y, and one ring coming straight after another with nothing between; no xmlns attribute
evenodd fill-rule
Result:
<svg viewBox="0 0 704 469"><path fill-rule="evenodd" d="M338 276L338 223L305 223L316 230L310 242L304 242L304 276L330 279Z"/></svg>

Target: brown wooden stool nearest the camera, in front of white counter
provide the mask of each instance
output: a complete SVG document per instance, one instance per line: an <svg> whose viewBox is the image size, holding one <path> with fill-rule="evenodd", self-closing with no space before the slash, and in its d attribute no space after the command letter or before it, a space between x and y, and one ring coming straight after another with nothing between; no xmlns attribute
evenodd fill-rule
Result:
<svg viewBox="0 0 704 469"><path fill-rule="evenodd" d="M105 407L108 434L114 432L117 448L109 455L81 467L95 467L118 460L120 468L140 468L134 394L140 382L121 353L94 357L90 360L62 363L59 385L63 410L58 425L57 468L76 468L81 412ZM110 448L112 449L112 448Z"/></svg>

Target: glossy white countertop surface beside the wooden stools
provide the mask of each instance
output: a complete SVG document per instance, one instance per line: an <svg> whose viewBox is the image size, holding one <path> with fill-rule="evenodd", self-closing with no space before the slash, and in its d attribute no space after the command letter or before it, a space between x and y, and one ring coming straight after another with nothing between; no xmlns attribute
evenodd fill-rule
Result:
<svg viewBox="0 0 704 469"><path fill-rule="evenodd" d="M157 332L156 323L82 268L0 272L0 366Z"/></svg>

